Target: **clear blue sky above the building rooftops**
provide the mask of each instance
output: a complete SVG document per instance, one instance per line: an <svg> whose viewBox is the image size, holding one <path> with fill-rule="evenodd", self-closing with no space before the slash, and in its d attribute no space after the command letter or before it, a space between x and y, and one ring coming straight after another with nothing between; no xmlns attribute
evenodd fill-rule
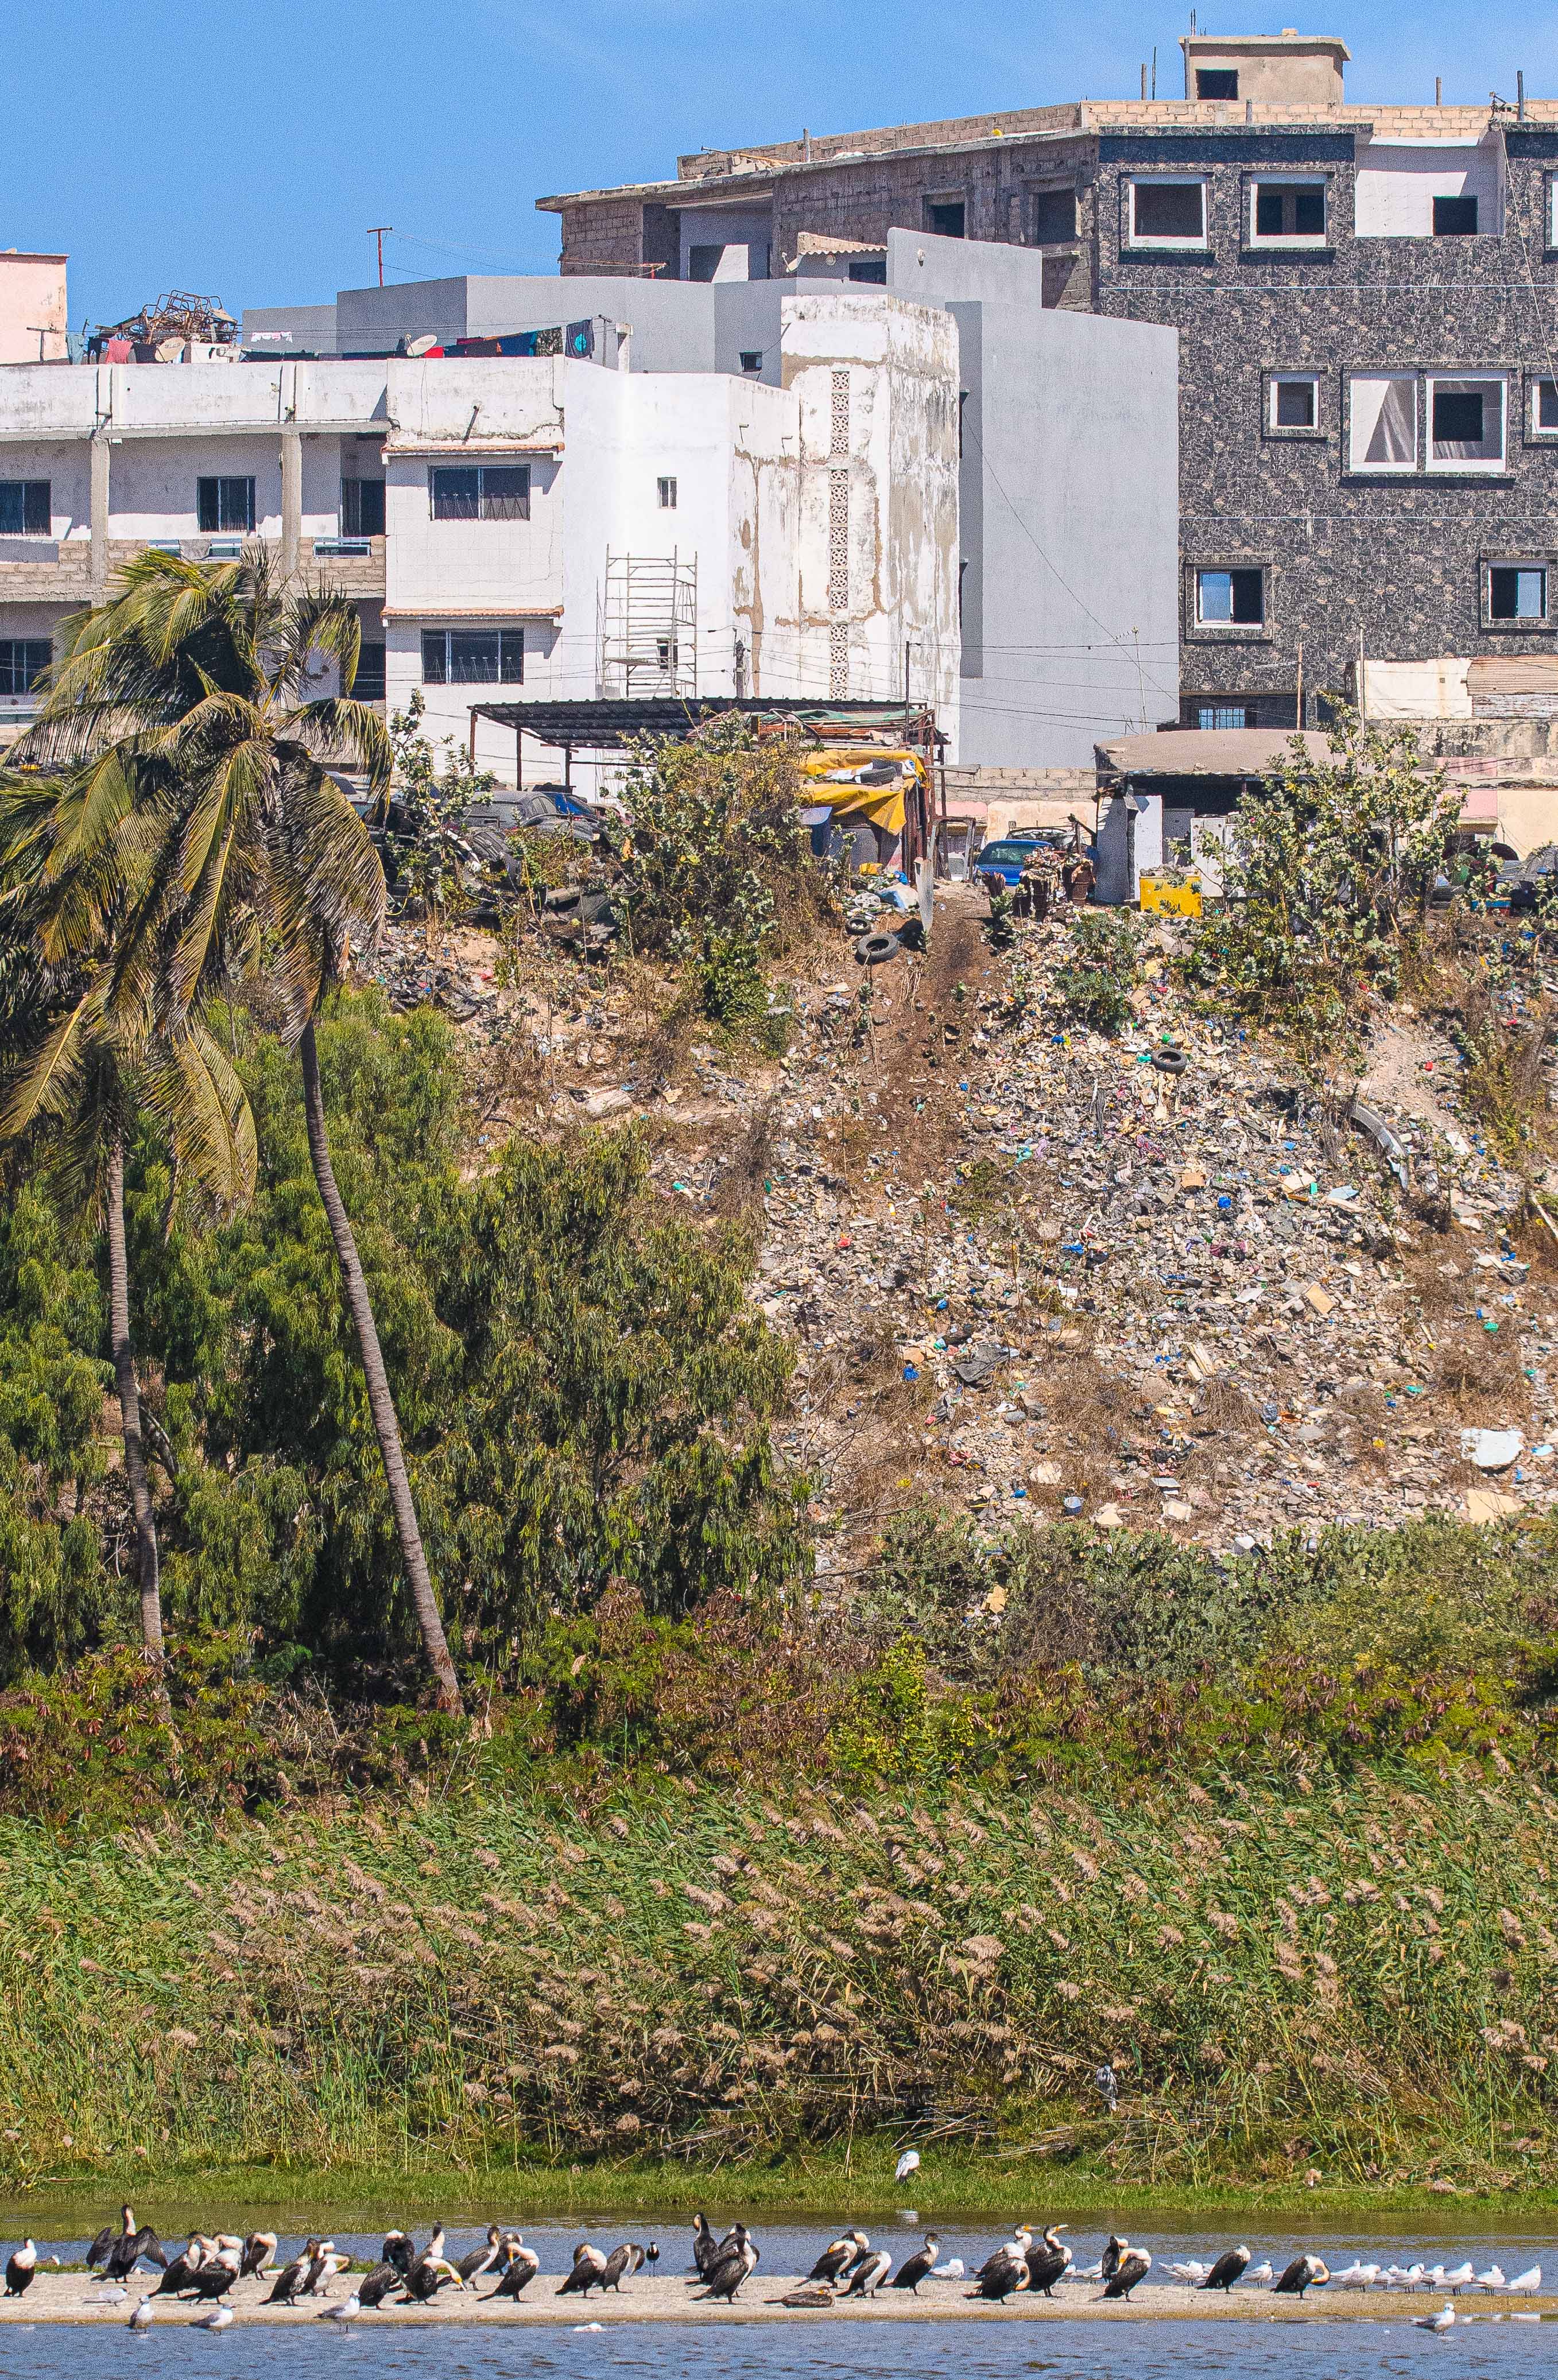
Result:
<svg viewBox="0 0 1558 2380"><path fill-rule="evenodd" d="M0 245L69 252L71 324L164 288L228 307L388 274L554 271L545 190L649 181L678 150L1068 98L1127 98L1189 12L1016 0L31 0L10 14ZM1558 12L1513 0L1201 7L1215 31L1342 33L1349 98L1558 93Z"/></svg>

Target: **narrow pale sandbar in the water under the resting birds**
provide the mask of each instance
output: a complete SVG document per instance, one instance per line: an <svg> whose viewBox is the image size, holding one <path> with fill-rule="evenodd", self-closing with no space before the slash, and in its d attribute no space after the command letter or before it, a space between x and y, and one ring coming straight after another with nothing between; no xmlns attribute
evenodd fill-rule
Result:
<svg viewBox="0 0 1558 2380"><path fill-rule="evenodd" d="M571 2328L576 2323L785 2323L802 2320L806 2316L773 2304L787 2290L802 2287L802 2282L790 2275L764 2275L761 2271L752 2275L737 2297L735 2306L711 2306L706 2299L697 2297L692 2285L680 2275L635 2275L621 2290L621 2294L602 2297L597 2290L583 2297L559 2297L557 2275L540 2273L526 2297L492 2299L488 2282L478 2282L471 2290L442 2290L431 2306L402 2306L388 2304L373 2313L364 2313L362 2328L373 2330L383 2323L421 2323L421 2325L447 2325L447 2323L502 2323L511 2328ZM968 2282L963 2280L930 2280L921 2297L909 2297L909 2292L882 2290L871 2304L863 2299L852 2299L849 2304L835 2304L828 2311L828 2320L854 2323L861 2318L882 2318L897 2323L935 2323L935 2320L985 2320L985 2323L1047 2323L1066 2320L1070 2316L1085 2316L1087 2320L1106 2323L1142 2323L1142 2320L1232 2320L1232 2323L1315 2323L1334 2320L1337 2316L1351 2320L1394 2320L1406 2323L1411 2316L1437 2313L1444 2297L1408 2297L1406 2292L1356 2292L1356 2290L1320 2290L1303 2301L1292 2297L1273 2297L1270 2290L1235 2290L1232 2297L1211 2297L1201 2290L1185 2287L1151 2287L1142 2285L1127 2301L1101 2301L1092 2282L1068 2282L1056 2290L1054 2299L1044 2297L1013 2297L1004 2306L990 2306L982 2301L970 2301L963 2292ZM302 2306L266 2306L264 2297L269 2285L245 2280L233 2290L231 2304L238 2323L288 2328L297 2323L316 2323L323 2318L319 2301L304 2301ZM478 2294L480 2292L480 2294ZM535 2294L540 2292L540 2294ZM0 2328L26 2325L26 2323L126 2323L133 2304L145 2294L145 2285L138 2280L128 2297L119 2304L105 2306L102 2282L88 2280L86 2273L38 2273L31 2290L19 2299L0 2299ZM338 2280L328 2304L340 2304L345 2297L345 2282ZM164 2297L157 2301L157 2323L188 2325L209 2306L197 2306L190 2299ZM1546 2311L1558 2313L1553 2299L1541 2297L1468 2297L1458 2304L1456 2316L1477 2316L1487 2320L1491 2313L1534 2313ZM816 2318L816 2313L811 2316Z"/></svg>

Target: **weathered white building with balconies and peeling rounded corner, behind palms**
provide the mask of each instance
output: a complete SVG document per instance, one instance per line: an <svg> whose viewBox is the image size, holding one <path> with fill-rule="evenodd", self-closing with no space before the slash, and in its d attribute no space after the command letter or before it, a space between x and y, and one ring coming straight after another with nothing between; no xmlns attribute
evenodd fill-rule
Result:
<svg viewBox="0 0 1558 2380"><path fill-rule="evenodd" d="M897 697L956 740L959 345L880 290L778 295L756 367L590 355L0 369L0 716L145 545L262 540L362 609L359 690ZM478 759L514 778L485 724ZM538 750L528 766L552 774Z"/></svg>

